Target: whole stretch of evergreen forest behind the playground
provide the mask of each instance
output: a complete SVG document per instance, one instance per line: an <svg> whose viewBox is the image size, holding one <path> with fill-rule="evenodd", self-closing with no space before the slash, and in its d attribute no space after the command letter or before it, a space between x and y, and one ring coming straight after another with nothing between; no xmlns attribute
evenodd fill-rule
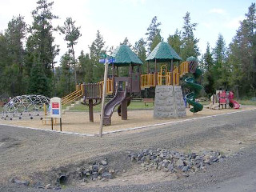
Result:
<svg viewBox="0 0 256 192"><path fill-rule="evenodd" d="M75 58L76 44L81 34L73 18L67 17L62 26L53 26L58 15L52 13L54 2L38 0L32 11L32 23L26 23L22 15L14 16L0 32L0 97L14 97L22 94L42 94L48 97L63 97L81 82L99 82L103 78L104 66L98 63L102 53L111 54L115 47L106 45L100 31L95 31L95 39L89 53L83 50ZM215 45L209 43L203 53L199 52L200 37L195 37L198 23L192 22L190 13L183 17L183 26L174 34L162 38L161 25L155 16L149 21L145 34L132 45L125 38L120 45L130 46L135 54L146 64L146 56L158 42L166 41L185 61L194 56L200 61L203 71L202 85L205 94L215 90L234 90L238 98L256 96L256 6L252 3L240 22L232 42L225 42L218 34ZM59 55L54 33L62 35L67 51ZM86 35L86 34L84 34ZM143 37L144 35L144 37ZM86 42L83 42L86 45ZM86 47L85 47L86 48ZM128 71L123 70L121 74ZM146 65L142 66L146 72ZM206 96L205 95L205 96Z"/></svg>

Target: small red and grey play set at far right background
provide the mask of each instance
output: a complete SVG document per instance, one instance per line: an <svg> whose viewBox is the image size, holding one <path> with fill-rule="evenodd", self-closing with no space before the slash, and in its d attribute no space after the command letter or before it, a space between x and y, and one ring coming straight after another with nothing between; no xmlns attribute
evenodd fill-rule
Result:
<svg viewBox="0 0 256 192"><path fill-rule="evenodd" d="M211 96L211 103L206 106L212 110L220 110L226 108L239 109L240 104L234 100L234 93L227 90L216 90L216 94Z"/></svg>

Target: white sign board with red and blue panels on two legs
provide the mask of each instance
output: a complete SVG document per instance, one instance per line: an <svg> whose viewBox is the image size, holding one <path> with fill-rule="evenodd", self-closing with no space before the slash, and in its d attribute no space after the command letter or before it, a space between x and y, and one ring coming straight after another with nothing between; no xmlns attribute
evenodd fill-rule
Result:
<svg viewBox="0 0 256 192"><path fill-rule="evenodd" d="M50 98L50 120L51 130L54 130L54 118L59 118L59 126L62 131L62 99L61 98Z"/></svg>

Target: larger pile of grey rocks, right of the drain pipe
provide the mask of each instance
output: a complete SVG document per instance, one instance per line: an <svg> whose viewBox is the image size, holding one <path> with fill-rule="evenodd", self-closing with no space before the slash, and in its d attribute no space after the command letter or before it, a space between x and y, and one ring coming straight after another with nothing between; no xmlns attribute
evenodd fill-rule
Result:
<svg viewBox="0 0 256 192"><path fill-rule="evenodd" d="M203 170L213 163L222 162L226 157L218 151L180 153L165 149L145 149L138 153L130 152L129 158L133 162L141 163L144 170L163 170L189 176L190 172Z"/></svg>

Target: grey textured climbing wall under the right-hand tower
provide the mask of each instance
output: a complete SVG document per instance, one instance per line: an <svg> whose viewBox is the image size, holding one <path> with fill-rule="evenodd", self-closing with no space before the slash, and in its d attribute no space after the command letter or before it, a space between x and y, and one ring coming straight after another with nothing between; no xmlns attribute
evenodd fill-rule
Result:
<svg viewBox="0 0 256 192"><path fill-rule="evenodd" d="M179 118L186 116L181 86L156 86L154 118Z"/></svg>

